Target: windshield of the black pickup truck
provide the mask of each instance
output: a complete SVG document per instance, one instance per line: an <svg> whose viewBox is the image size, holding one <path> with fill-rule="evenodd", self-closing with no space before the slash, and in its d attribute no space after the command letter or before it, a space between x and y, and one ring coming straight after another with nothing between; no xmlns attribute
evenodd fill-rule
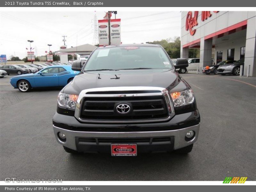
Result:
<svg viewBox="0 0 256 192"><path fill-rule="evenodd" d="M161 47L127 46L96 49L84 71L122 69L172 69Z"/></svg>

